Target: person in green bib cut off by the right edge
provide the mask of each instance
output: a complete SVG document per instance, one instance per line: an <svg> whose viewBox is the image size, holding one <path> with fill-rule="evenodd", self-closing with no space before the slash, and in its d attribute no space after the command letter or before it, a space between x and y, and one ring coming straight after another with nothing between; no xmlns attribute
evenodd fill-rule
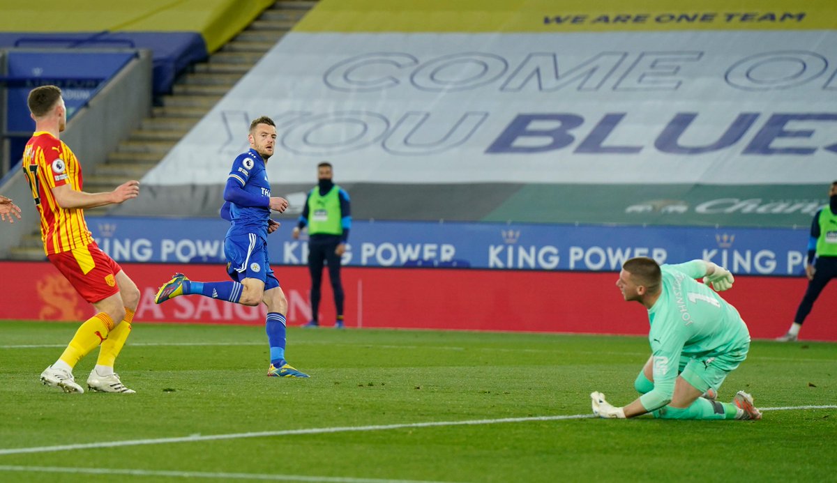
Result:
<svg viewBox="0 0 837 483"><path fill-rule="evenodd" d="M805 275L809 280L808 290L799 303L788 333L776 339L779 342L793 342L798 338L799 329L811 312L819 292L823 291L832 278L837 277L837 181L831 183L828 206L817 211L811 223Z"/></svg>

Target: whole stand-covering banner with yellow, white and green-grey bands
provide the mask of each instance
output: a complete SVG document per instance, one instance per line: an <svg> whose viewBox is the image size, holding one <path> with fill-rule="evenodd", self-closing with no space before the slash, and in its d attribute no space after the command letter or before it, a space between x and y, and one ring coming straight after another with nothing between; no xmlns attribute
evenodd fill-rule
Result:
<svg viewBox="0 0 837 483"><path fill-rule="evenodd" d="M322 0L116 214L212 216L267 114L274 191L329 160L358 219L808 226L835 53L833 2Z"/></svg>

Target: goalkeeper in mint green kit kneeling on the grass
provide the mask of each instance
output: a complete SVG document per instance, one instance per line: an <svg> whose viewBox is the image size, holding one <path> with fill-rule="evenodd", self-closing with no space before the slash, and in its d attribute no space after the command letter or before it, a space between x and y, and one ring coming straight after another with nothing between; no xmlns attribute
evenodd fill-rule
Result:
<svg viewBox="0 0 837 483"><path fill-rule="evenodd" d="M703 283L696 282L700 277ZM761 419L752 396L743 391L732 403L715 400L724 379L747 358L750 348L747 324L716 293L731 288L733 280L726 268L704 260L663 266L647 257L624 262L616 287L626 302L636 301L648 309L651 357L634 382L642 394L638 399L615 407L596 391L590 394L593 414Z"/></svg>

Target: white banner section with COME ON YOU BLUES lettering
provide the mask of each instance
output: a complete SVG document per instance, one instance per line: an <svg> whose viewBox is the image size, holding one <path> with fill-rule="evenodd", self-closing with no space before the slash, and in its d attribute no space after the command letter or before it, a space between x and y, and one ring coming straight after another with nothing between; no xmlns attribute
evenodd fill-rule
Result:
<svg viewBox="0 0 837 483"><path fill-rule="evenodd" d="M143 179L223 183L275 119L274 183L822 184L837 32L290 33Z"/></svg>

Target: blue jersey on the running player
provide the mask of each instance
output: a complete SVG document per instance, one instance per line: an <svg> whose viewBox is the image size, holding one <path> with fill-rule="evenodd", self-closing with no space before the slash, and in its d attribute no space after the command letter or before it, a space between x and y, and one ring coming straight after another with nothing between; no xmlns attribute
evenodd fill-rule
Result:
<svg viewBox="0 0 837 483"><path fill-rule="evenodd" d="M238 182L244 191L250 195L270 198L270 181L264 160L255 150L242 153L233 161L233 169L229 171L229 178ZM229 215L232 225L228 235L240 233L257 233L267 237L267 225L270 220L270 208L267 206L238 206L230 203Z"/></svg>

